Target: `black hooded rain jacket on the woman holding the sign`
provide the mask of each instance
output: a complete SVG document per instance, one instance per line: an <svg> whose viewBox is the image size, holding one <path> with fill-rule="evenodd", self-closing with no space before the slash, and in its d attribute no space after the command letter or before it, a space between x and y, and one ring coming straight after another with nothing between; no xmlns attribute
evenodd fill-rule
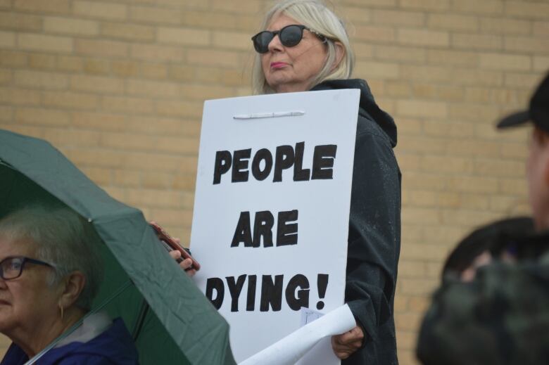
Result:
<svg viewBox="0 0 549 365"><path fill-rule="evenodd" d="M393 365L393 301L400 253L400 169L396 124L361 79L329 80L312 90L360 89L347 252L345 301L365 331L344 365Z"/></svg>

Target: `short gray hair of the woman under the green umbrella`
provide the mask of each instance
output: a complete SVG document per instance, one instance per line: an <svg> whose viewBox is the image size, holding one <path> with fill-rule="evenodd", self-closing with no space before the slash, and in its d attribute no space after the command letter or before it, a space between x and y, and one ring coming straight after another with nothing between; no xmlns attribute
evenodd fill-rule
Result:
<svg viewBox="0 0 549 365"><path fill-rule="evenodd" d="M62 205L29 205L1 219L0 233L11 241L25 239L36 245L37 259L53 265L50 286L72 271L82 272L86 283L75 304L92 308L103 279L101 238L92 224Z"/></svg>

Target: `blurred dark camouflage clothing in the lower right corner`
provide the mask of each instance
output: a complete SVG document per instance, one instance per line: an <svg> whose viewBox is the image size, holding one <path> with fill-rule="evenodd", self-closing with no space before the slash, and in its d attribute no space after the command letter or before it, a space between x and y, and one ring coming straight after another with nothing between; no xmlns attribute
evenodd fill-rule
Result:
<svg viewBox="0 0 549 365"><path fill-rule="evenodd" d="M424 365L549 364L549 252L497 262L434 293L419 333Z"/></svg>

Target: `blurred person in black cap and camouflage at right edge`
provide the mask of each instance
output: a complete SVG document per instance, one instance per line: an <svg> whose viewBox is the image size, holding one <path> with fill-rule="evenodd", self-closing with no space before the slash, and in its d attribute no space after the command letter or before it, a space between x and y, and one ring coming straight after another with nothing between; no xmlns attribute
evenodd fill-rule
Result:
<svg viewBox="0 0 549 365"><path fill-rule="evenodd" d="M515 263L493 261L467 283L445 280L422 322L416 354L424 365L548 364L549 359L549 75L528 110L499 129L531 122L527 179L538 231L511 245ZM501 229L501 227L500 227Z"/></svg>

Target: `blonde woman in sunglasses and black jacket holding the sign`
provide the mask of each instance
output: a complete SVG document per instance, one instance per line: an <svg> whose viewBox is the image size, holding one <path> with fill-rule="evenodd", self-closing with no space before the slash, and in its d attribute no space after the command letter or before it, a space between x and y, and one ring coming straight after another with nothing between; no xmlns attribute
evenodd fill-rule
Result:
<svg viewBox="0 0 549 365"><path fill-rule="evenodd" d="M343 22L320 1L288 0L252 38L255 94L360 89L345 300L357 326L334 336L343 364L397 364L393 298L400 251L396 125L367 83L350 79L353 53ZM322 133L322 131L319 131Z"/></svg>

